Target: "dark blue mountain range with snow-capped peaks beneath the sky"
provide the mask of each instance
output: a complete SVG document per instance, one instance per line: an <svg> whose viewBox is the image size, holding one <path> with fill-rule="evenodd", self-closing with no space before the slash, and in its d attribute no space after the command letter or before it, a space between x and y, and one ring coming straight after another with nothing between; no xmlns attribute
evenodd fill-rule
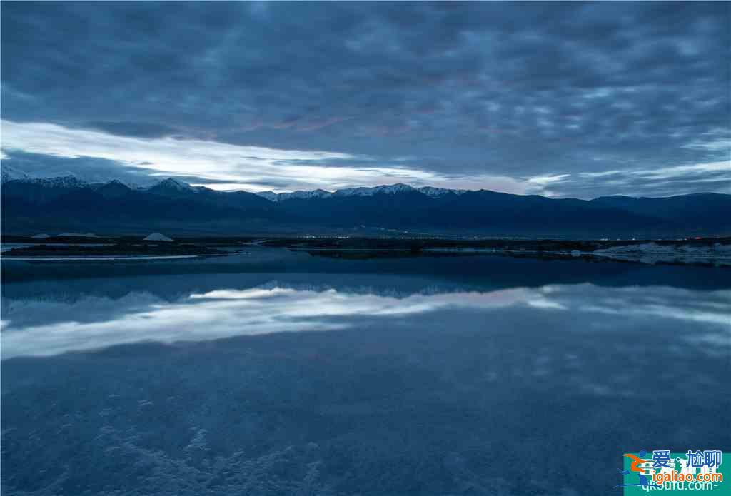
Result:
<svg viewBox="0 0 731 496"><path fill-rule="evenodd" d="M146 188L3 167L2 232L159 230L190 234L728 235L731 195L553 199L398 183L330 192L215 191L167 178Z"/></svg>

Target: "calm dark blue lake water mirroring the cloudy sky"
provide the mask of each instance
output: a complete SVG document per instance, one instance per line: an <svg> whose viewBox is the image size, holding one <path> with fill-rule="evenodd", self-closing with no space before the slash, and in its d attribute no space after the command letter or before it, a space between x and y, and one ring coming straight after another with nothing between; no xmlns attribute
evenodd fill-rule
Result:
<svg viewBox="0 0 731 496"><path fill-rule="evenodd" d="M731 451L731 271L268 256L3 262L4 494L621 494L626 451Z"/></svg>

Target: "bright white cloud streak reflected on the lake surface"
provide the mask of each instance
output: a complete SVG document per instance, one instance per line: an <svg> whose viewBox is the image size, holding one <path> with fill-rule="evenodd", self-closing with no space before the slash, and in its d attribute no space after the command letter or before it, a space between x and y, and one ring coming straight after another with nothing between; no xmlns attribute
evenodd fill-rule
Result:
<svg viewBox="0 0 731 496"><path fill-rule="evenodd" d="M695 332L694 339L719 346L731 343L729 290L699 294L666 287L606 289L584 283L476 291L413 278L390 278L390 286L357 286L352 284L357 275L330 276L330 281L326 275L311 275L310 283L297 282L296 278L287 281L281 275L257 275L257 280L268 277L272 278L268 282L243 289L241 284L246 285L246 281L240 278L230 277L238 289L210 289L189 277L190 289L175 286L167 299L150 290L132 289L120 295L118 284L116 294L100 294L96 280L77 281L70 291L63 286L67 289L58 288L61 292L56 293L48 291L48 283L26 283L18 289L20 295L14 295L13 287L2 301L3 357L48 356L138 341L174 343L272 332L330 331L368 327L379 320L388 324L443 310L490 312L499 308L520 309L523 318L563 311L570 313L573 321L583 320L594 329L602 327L599 320L610 316L706 324L708 329L702 334ZM210 281L210 276L205 279ZM333 284L333 279L349 283ZM167 278L151 278L149 287L160 283L167 287L169 282ZM668 325L671 330L667 332L674 332L678 324Z"/></svg>

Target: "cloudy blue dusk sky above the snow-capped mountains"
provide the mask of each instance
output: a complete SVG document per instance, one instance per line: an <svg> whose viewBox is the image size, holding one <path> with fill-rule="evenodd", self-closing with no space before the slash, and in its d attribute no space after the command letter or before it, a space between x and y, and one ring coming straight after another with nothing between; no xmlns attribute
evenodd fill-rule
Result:
<svg viewBox="0 0 731 496"><path fill-rule="evenodd" d="M3 166L221 190L731 193L731 3L10 2Z"/></svg>

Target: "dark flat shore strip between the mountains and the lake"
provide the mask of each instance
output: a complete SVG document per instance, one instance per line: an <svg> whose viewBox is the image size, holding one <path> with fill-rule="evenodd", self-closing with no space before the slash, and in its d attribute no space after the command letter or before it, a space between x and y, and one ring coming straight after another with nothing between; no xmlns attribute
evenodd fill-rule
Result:
<svg viewBox="0 0 731 496"><path fill-rule="evenodd" d="M10 243L8 241L10 240ZM5 236L3 257L17 260L173 259L224 256L246 246L286 248L340 259L404 256L501 255L539 259L615 260L645 264L700 264L731 267L731 237L678 240L528 240L409 239L372 237L185 237L175 242L138 237L98 237L96 243L76 237Z"/></svg>

